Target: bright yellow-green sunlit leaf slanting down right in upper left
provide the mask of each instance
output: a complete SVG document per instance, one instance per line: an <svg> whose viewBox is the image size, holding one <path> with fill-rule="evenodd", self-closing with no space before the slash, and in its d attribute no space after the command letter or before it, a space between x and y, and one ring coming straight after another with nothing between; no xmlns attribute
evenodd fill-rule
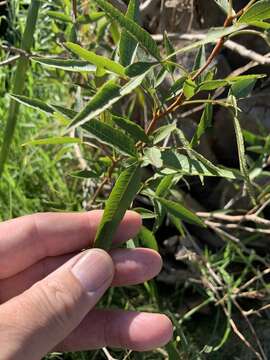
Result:
<svg viewBox="0 0 270 360"><path fill-rule="evenodd" d="M90 64L104 68L117 75L125 76L125 68L121 64L118 64L105 56L97 55L93 51L86 50L80 45L73 44L71 42L68 42L65 45L70 51L79 56L79 58L88 61Z"/></svg>

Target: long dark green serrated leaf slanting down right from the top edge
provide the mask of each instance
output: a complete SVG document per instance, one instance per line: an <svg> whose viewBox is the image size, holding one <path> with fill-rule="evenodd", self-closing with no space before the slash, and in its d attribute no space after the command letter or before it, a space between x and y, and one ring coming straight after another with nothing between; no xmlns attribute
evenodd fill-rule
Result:
<svg viewBox="0 0 270 360"><path fill-rule="evenodd" d="M132 35L144 49L157 60L161 60L159 49L151 35L136 22L126 18L119 10L106 0L94 0L113 20Z"/></svg>

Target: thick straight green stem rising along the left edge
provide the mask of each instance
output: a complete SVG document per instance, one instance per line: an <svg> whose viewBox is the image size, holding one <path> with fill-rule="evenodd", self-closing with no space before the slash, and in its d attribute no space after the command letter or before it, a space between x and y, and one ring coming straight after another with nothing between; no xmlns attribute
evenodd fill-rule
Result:
<svg viewBox="0 0 270 360"><path fill-rule="evenodd" d="M29 53L34 42L34 32L36 28L38 12L40 8L39 0L32 0L29 6L27 20L25 25L24 34L21 42L21 49ZM26 72L29 64L29 59L26 56L22 56L16 68L12 92L15 94L22 94L25 86ZM10 145L13 139L20 104L15 100L10 100L9 112L7 117L6 128L4 132L4 138L2 143L2 149L0 153L0 176L3 173L5 162L7 160Z"/></svg>

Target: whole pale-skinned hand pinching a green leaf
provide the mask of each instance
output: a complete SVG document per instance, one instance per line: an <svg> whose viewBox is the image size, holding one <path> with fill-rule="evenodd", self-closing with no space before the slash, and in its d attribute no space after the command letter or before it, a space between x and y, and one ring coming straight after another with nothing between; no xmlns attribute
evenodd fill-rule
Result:
<svg viewBox="0 0 270 360"><path fill-rule="evenodd" d="M162 266L149 249L83 252L101 217L101 211L44 213L0 224L0 360L104 346L148 351L171 339L165 315L95 309L109 287L143 283ZM140 226L140 216L127 212L114 243Z"/></svg>

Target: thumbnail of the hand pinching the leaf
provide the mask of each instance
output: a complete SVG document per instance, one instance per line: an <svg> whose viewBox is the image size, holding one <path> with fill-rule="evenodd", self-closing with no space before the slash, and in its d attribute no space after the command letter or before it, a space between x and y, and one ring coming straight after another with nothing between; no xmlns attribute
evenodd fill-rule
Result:
<svg viewBox="0 0 270 360"><path fill-rule="evenodd" d="M75 263L73 275L89 293L109 287L114 273L113 262L103 250L92 249Z"/></svg>

